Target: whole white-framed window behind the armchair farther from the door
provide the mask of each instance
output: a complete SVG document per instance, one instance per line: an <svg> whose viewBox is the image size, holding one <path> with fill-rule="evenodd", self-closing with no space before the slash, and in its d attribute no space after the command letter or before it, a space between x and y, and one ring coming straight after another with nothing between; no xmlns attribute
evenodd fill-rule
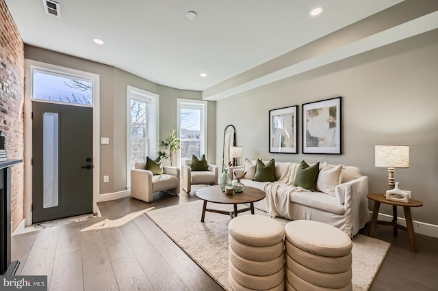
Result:
<svg viewBox="0 0 438 291"><path fill-rule="evenodd" d="M177 126L181 139L179 164L192 155L207 155L207 101L177 100Z"/></svg>

